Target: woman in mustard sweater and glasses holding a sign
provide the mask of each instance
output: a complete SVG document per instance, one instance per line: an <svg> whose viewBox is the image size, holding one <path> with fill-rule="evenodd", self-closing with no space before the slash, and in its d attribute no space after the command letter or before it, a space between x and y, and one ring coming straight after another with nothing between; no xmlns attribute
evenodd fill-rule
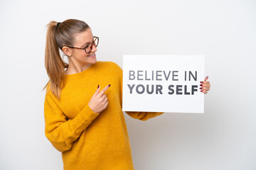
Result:
<svg viewBox="0 0 256 170"><path fill-rule="evenodd" d="M122 69L114 62L96 60L98 42L83 21L48 24L46 137L62 152L64 169L134 169L122 113ZM68 64L59 49L68 57ZM206 94L210 84L202 83ZM139 120L163 114L126 113Z"/></svg>

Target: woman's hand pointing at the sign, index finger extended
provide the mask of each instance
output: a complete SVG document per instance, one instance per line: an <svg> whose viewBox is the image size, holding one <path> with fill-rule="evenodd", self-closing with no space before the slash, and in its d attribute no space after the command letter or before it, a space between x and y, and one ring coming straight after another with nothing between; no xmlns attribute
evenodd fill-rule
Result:
<svg viewBox="0 0 256 170"><path fill-rule="evenodd" d="M95 94L93 94L92 98L90 99L88 106L92 109L95 113L102 112L105 108L107 108L108 101L105 91L110 88L110 85L105 86L102 91L100 91L100 86L95 91Z"/></svg>

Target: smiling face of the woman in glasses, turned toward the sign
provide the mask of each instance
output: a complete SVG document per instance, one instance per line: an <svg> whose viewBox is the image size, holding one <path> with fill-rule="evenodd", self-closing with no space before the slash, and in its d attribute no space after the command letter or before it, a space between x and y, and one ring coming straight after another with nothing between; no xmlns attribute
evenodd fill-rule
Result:
<svg viewBox="0 0 256 170"><path fill-rule="evenodd" d="M92 30L88 28L82 33L75 35L75 44L74 47L87 47L91 45L93 40ZM95 52L97 51L96 47L92 45L92 50L90 53L86 53L85 50L80 49L70 49L72 56L70 60L73 62L78 62L80 64L95 64L97 62Z"/></svg>

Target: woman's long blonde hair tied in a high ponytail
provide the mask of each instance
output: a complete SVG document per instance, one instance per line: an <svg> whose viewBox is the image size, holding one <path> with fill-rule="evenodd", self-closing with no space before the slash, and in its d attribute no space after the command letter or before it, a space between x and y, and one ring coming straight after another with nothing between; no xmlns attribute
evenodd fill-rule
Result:
<svg viewBox="0 0 256 170"><path fill-rule="evenodd" d="M68 64L61 59L59 49L62 50L64 46L73 46L75 34L87 30L90 26L76 19L68 19L58 25L57 27L56 21L50 21L47 25L45 67L49 81L43 90L50 84L46 93L50 90L60 100L60 92L65 86L65 68L68 68Z"/></svg>

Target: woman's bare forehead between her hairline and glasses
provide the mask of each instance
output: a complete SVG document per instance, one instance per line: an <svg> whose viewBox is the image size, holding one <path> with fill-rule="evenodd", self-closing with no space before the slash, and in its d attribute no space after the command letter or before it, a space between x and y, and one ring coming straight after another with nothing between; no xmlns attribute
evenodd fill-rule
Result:
<svg viewBox="0 0 256 170"><path fill-rule="evenodd" d="M82 45L85 42L92 42L93 35L92 30L88 28L87 30L75 34L75 45Z"/></svg>

